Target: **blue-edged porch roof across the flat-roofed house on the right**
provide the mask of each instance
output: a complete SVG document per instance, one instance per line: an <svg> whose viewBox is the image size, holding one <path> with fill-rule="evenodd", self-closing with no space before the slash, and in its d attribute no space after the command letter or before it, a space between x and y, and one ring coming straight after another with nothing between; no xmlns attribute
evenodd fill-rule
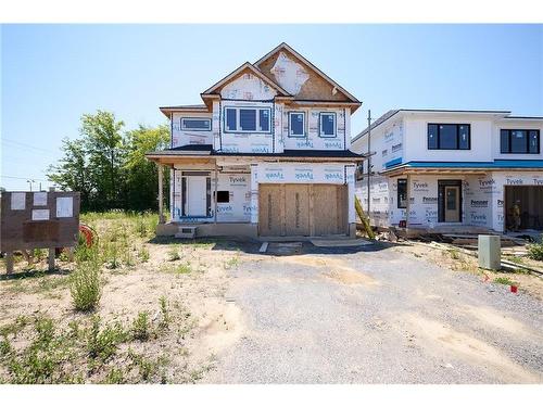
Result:
<svg viewBox="0 0 543 407"><path fill-rule="evenodd" d="M424 162L412 161L387 168L381 174L405 173L488 173L500 169L543 170L543 160L494 160L493 162Z"/></svg>

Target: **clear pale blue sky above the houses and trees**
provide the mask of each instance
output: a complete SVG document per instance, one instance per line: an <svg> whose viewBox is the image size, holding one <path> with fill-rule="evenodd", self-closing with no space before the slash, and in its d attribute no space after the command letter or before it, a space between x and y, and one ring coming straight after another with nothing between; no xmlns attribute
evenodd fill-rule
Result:
<svg viewBox="0 0 543 407"><path fill-rule="evenodd" d="M283 41L363 102L353 136L368 109L543 115L543 25L2 25L0 37L8 190L50 186L83 114L114 112L126 130L166 123L159 106L202 103Z"/></svg>

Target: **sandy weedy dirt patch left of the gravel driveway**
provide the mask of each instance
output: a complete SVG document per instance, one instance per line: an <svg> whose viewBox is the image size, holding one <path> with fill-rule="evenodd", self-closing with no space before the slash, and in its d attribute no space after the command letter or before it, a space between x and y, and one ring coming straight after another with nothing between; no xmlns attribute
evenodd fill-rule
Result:
<svg viewBox="0 0 543 407"><path fill-rule="evenodd" d="M128 249L132 252L129 265L119 260L114 268L103 267L100 305L88 314L76 311L72 303L73 263L56 259L53 274L45 271L46 258L27 271L21 258L10 277L5 268L0 269L0 382L197 382L242 332L240 310L225 298L228 270L242 257L236 249L235 242L220 240L180 244L135 239ZM148 252L144 260L138 258L138 251ZM166 304L167 328L161 298ZM73 331L90 330L94 316L100 317L102 331L118 323L130 332L140 313L148 315L149 338L121 341L106 360L97 363L88 356L85 333L72 341ZM61 356L56 370L46 371L47 378L42 373L48 367L27 357L38 336L36 327L45 319L53 321L60 342L68 336L74 342L70 349L58 346L59 353L70 355ZM46 356L55 359L58 354Z"/></svg>

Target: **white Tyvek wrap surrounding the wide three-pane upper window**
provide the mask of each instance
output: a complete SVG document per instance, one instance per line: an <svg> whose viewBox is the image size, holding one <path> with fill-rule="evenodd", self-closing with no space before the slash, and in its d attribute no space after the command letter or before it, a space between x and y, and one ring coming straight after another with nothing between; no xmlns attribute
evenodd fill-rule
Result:
<svg viewBox="0 0 543 407"><path fill-rule="evenodd" d="M229 132L225 129L225 109L235 107L268 107L274 116L275 106L273 102L244 102L244 101L223 101L220 112L220 138L217 151L224 153L274 153L274 117L270 117L269 132ZM275 152L282 152L275 151Z"/></svg>

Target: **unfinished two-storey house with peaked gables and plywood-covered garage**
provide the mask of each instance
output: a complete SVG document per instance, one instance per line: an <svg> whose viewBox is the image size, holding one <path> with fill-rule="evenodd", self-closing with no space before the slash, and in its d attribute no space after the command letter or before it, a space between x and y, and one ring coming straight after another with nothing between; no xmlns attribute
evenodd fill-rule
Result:
<svg viewBox="0 0 543 407"><path fill-rule="evenodd" d="M354 236L356 98L286 43L201 98L161 107L172 145L147 154L172 171L172 222L160 233Z"/></svg>

